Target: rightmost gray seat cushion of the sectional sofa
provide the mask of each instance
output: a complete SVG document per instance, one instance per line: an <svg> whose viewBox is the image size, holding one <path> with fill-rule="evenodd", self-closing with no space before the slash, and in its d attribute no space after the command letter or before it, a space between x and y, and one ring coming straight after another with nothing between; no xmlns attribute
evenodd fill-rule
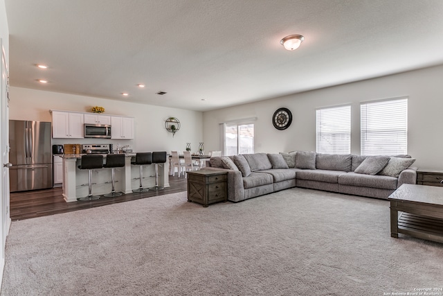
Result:
<svg viewBox="0 0 443 296"><path fill-rule="evenodd" d="M380 189L397 189L397 178L381 175L364 175L350 172L339 175L338 184Z"/></svg>

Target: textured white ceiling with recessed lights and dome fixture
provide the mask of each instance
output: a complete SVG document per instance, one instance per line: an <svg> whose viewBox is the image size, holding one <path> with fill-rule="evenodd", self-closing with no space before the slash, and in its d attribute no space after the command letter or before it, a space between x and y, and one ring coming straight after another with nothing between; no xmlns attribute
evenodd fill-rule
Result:
<svg viewBox="0 0 443 296"><path fill-rule="evenodd" d="M10 85L190 110L443 64L442 0L6 0L6 13ZM296 51L280 45L291 34Z"/></svg>

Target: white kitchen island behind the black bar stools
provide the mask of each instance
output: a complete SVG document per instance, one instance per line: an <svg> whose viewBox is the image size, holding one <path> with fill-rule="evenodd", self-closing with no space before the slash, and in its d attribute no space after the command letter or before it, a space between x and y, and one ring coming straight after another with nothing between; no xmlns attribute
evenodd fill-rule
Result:
<svg viewBox="0 0 443 296"><path fill-rule="evenodd" d="M63 159L63 198L66 202L76 202L77 198L88 195L88 170L80 170L83 154L62 155ZM116 168L116 191L132 193L132 189L138 189L139 169L131 164L132 157L136 153L125 153L125 166ZM103 155L105 162L106 155ZM168 164L159 166L159 186L169 187ZM94 169L92 173L93 195L103 195L111 192L111 168ZM143 186L155 185L154 164L143 166ZM137 194L137 193L135 193Z"/></svg>

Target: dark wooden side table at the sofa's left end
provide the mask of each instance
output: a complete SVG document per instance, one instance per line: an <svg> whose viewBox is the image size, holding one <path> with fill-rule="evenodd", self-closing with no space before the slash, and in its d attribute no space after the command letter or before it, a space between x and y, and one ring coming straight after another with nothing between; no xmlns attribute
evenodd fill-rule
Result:
<svg viewBox="0 0 443 296"><path fill-rule="evenodd" d="M188 172L188 202L198 202L208 207L214 202L228 199L228 172L190 171Z"/></svg>

